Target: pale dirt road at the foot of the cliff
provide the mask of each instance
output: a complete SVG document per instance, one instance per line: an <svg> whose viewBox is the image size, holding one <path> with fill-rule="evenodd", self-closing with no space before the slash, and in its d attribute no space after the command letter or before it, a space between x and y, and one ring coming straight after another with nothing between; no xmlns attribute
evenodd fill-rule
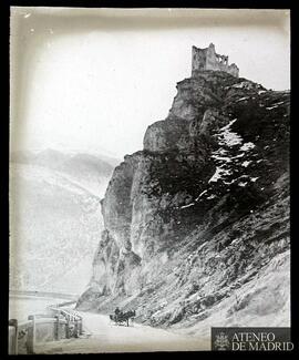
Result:
<svg viewBox="0 0 299 360"><path fill-rule="evenodd" d="M35 353L99 353L209 350L208 341L133 323L115 326L107 316L81 312L84 335L35 346Z"/></svg>

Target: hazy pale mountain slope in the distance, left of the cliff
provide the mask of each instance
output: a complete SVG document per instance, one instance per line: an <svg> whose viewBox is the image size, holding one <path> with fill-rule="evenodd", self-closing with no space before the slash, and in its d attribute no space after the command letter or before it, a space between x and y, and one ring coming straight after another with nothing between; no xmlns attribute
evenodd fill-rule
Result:
<svg viewBox="0 0 299 360"><path fill-rule="evenodd" d="M84 290L103 230L100 196L112 171L87 154L12 153L10 288Z"/></svg>

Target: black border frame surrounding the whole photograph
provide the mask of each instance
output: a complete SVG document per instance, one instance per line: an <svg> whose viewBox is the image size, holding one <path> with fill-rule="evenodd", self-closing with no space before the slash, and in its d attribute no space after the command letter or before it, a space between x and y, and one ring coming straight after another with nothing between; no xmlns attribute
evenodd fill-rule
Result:
<svg viewBox="0 0 299 360"><path fill-rule="evenodd" d="M295 349L290 352L280 352L282 356L293 356L298 352L299 347L299 337L298 337L298 294L296 291L296 280L297 280L297 274L298 274L298 260L297 255L298 253L298 239L296 238L297 233L297 226L296 226L296 192L297 189L297 183L295 179L295 169L296 169L296 142L297 142L297 132L296 132L296 125L298 122L298 109L296 106L296 100L298 96L296 96L296 92L298 91L298 80L296 76L297 71L297 64L298 61L296 61L297 56L297 45L298 45L298 39L296 39L296 25L298 24L298 13L296 11L296 8L292 3L292 1L285 0L285 1L278 1L278 0L251 0L251 1L225 1L225 0L202 0L202 1L115 1L115 0L1 0L1 21L0 24L3 27L1 29L1 35L3 37L3 41L1 42L1 60L2 60L2 66L1 69L4 70L4 73L2 75L2 84L4 85L4 91L2 93L2 106L1 106L1 113L2 119L0 121L1 125L1 155L2 155L2 173L0 176L1 182L1 209L3 210L1 213L1 240L0 240L0 256L1 256L1 302L0 302L0 315L1 315L1 337L0 337L0 354L1 358L7 357L7 343L8 343L8 331L7 331L7 323L8 323L8 289L9 289L9 34L10 34L10 7L71 7L71 8L209 8L209 9L286 9L291 10L291 135L290 135L290 175L291 175L291 187L290 187L290 195L291 195L291 216L290 216L290 224L291 224L291 338L292 342L295 343ZM295 64L295 66L292 66ZM297 80L297 81L296 81ZM6 96L7 95L7 96ZM4 106L4 103L8 104L8 106ZM295 104L295 105L293 105ZM3 332L2 332L3 331ZM161 352L162 354L166 354L165 352ZM171 352L174 354L174 352ZM215 351L193 351L187 352L183 351L178 354L188 354L196 357L208 354L208 356L215 356L217 353L220 353L223 356L223 352L215 352ZM236 356L239 358L239 356L247 356L249 352L229 352L227 353L230 356ZM250 358L254 356L259 356L261 352L250 352ZM275 352L275 354L278 354L279 352ZM101 353L101 357L103 354L107 353ZM112 353L110 353L112 354ZM138 353L126 353L128 356L140 356ZM142 356L145 354L142 353ZM159 352L154 352L155 354L159 354ZM80 356L80 354L79 354ZM89 354L89 356L99 356L99 354ZM274 353L271 351L269 352L262 352L262 356L272 357ZM9 356L8 356L9 357ZM10 356L11 357L11 356ZM27 356L28 357L28 356ZM33 356L37 358L37 356ZM13 358L13 356L12 356Z"/></svg>

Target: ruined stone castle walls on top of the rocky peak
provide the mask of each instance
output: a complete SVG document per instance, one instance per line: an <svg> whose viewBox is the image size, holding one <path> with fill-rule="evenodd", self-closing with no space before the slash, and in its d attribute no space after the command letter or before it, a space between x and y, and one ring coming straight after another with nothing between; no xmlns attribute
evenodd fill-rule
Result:
<svg viewBox="0 0 299 360"><path fill-rule="evenodd" d="M192 76L196 71L203 70L225 71L239 76L239 68L235 63L229 65L227 55L217 54L213 43L205 49L192 48Z"/></svg>

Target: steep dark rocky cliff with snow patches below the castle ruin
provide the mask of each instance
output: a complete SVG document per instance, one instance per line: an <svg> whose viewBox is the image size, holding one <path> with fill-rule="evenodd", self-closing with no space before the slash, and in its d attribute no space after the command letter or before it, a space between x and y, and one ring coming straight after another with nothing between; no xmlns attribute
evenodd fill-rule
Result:
<svg viewBox="0 0 299 360"><path fill-rule="evenodd" d="M126 155L80 309L189 333L289 325L289 92L220 71L177 83Z"/></svg>

